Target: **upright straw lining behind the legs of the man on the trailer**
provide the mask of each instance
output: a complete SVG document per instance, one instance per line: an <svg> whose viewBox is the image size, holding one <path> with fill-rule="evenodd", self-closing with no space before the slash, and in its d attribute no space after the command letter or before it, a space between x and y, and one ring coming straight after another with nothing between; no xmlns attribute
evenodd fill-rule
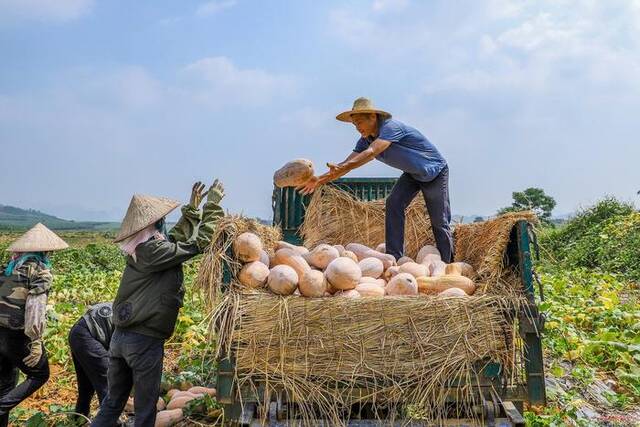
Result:
<svg viewBox="0 0 640 427"><path fill-rule="evenodd" d="M305 246L361 243L375 248L385 241L384 205L384 199L363 202L347 191L322 186L305 212L300 233ZM422 197L407 208L404 235L406 253L412 258L422 246L435 242Z"/></svg>

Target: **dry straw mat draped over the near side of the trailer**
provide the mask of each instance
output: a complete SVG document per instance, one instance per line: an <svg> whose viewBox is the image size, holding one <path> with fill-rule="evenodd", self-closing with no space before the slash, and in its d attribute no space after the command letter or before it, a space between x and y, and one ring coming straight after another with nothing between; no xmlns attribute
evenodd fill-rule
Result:
<svg viewBox="0 0 640 427"><path fill-rule="evenodd" d="M216 312L218 351L235 355L238 397L260 387L265 400L283 392L303 424L320 417L342 425L361 402L381 419L408 406L436 422L477 419L472 386L480 369L489 361L512 369L507 307L490 296L353 300L234 291ZM447 399L456 413L448 413Z"/></svg>

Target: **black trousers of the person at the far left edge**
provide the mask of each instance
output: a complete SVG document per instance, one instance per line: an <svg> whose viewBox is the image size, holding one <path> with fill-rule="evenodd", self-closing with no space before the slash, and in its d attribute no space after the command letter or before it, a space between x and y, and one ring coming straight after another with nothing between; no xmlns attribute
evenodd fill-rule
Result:
<svg viewBox="0 0 640 427"><path fill-rule="evenodd" d="M42 351L38 364L30 368L22 359L29 355L31 340L23 331L0 328L0 427L9 424L9 411L31 396L49 379L49 360ZM18 384L18 370L26 379Z"/></svg>

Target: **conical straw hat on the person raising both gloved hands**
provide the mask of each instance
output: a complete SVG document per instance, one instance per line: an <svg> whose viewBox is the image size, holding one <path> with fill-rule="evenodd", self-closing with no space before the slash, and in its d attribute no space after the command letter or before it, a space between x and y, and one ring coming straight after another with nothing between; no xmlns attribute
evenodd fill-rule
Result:
<svg viewBox="0 0 640 427"><path fill-rule="evenodd" d="M164 218L178 206L180 206L180 202L166 197L134 194L114 242L121 242L127 237L133 236L138 231Z"/></svg>

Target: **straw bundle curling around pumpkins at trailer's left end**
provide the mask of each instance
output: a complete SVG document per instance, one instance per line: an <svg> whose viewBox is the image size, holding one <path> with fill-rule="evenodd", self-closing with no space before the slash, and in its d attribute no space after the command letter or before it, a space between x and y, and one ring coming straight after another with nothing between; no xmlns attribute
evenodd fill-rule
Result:
<svg viewBox="0 0 640 427"><path fill-rule="evenodd" d="M196 283L205 291L210 306L215 306L218 300L225 263L230 267L234 278L242 268L242 264L231 253L231 245L238 235L247 231L260 237L267 252L273 252L276 242L282 239L279 228L261 224L254 219L237 215L227 215L220 219L196 278Z"/></svg>

